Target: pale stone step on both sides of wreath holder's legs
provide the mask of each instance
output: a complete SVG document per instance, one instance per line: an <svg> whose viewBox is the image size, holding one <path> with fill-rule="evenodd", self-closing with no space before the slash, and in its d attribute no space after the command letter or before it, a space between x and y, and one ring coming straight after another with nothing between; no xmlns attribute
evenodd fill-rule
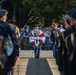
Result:
<svg viewBox="0 0 76 75"><path fill-rule="evenodd" d="M20 57L21 58L34 58L34 51L33 50L20 50ZM52 50L41 50L40 51L40 58L49 58L53 57Z"/></svg>

